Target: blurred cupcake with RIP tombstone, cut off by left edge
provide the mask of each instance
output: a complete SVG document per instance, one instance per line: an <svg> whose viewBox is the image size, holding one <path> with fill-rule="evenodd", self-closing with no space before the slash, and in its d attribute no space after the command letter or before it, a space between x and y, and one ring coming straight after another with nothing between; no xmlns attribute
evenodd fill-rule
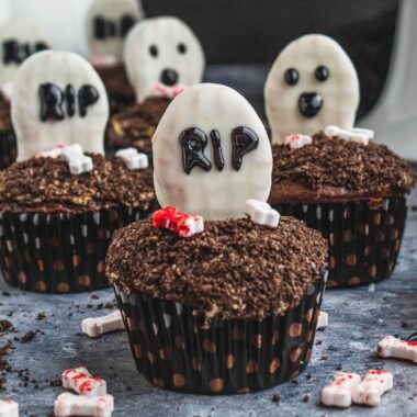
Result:
<svg viewBox="0 0 417 417"><path fill-rule="evenodd" d="M48 46L46 36L30 21L14 20L0 27L0 169L9 167L18 155L10 115L14 75L30 55Z"/></svg>

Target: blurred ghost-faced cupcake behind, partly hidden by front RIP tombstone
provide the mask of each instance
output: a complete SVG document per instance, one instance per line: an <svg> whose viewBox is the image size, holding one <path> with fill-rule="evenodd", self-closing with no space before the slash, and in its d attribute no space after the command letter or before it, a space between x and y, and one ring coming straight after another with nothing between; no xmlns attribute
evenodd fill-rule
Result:
<svg viewBox="0 0 417 417"><path fill-rule="evenodd" d="M150 139L168 104L201 82L204 52L179 19L146 19L128 34L124 61L137 103L111 117L106 139L114 149L134 146L151 158Z"/></svg>

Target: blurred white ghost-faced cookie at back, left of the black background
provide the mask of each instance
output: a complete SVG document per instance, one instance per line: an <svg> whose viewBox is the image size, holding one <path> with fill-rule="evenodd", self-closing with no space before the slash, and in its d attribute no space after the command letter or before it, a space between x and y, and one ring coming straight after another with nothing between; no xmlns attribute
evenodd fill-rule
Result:
<svg viewBox="0 0 417 417"><path fill-rule="evenodd" d="M201 82L205 57L200 41L177 18L145 19L129 32L124 63L136 101L153 95L173 98Z"/></svg>

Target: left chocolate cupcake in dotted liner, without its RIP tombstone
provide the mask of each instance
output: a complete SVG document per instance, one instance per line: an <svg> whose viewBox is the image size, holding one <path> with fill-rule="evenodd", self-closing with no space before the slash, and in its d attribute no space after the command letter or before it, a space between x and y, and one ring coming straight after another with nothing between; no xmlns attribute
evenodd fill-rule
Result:
<svg viewBox="0 0 417 417"><path fill-rule="evenodd" d="M0 173L2 275L26 291L105 288L113 232L154 207L153 172L87 154L91 170L75 174L65 155L54 156L15 162Z"/></svg>

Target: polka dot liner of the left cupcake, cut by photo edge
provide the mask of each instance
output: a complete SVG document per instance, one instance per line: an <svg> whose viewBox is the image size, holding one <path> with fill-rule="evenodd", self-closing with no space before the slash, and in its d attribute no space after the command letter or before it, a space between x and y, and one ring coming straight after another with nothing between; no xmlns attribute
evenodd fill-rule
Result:
<svg viewBox="0 0 417 417"><path fill-rule="evenodd" d="M108 288L104 259L113 232L149 213L129 207L77 214L0 212L4 281L42 293Z"/></svg>

